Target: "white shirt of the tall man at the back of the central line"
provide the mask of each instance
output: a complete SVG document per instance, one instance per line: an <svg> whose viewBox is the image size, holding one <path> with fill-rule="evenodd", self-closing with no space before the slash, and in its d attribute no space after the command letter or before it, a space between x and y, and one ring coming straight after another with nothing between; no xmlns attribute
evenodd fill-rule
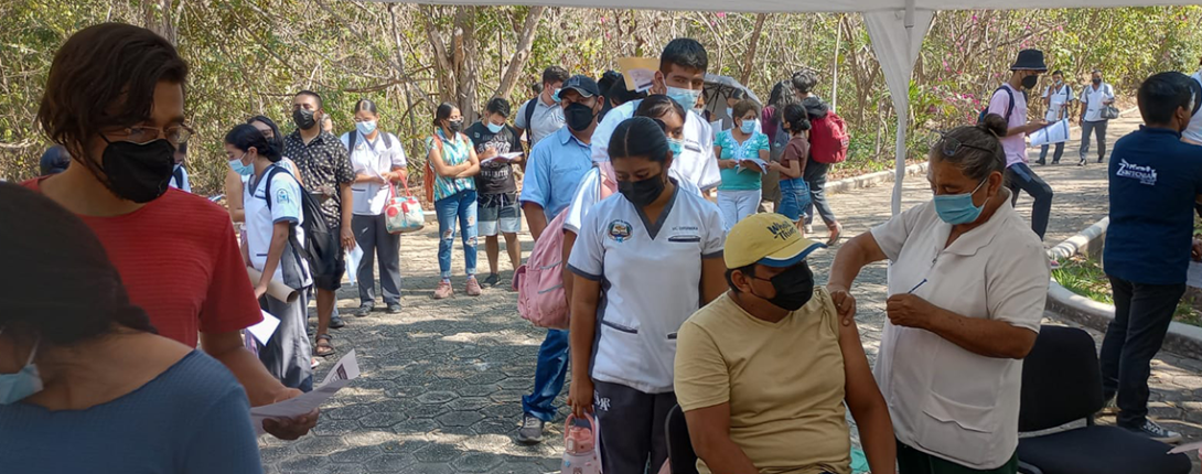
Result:
<svg viewBox="0 0 1202 474"><path fill-rule="evenodd" d="M605 119L593 131L590 141L593 161L609 161L609 137L623 120L635 117L639 100L623 103L605 114ZM684 148L680 156L672 160L676 176L683 177L700 189L716 188L722 182L714 158L714 131L706 119L694 111L685 112Z"/></svg>

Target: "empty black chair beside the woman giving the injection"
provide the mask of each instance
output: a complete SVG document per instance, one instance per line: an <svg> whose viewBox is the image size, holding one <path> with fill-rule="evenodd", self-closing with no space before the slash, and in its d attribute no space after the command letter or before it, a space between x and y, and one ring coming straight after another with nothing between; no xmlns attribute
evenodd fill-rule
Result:
<svg viewBox="0 0 1202 474"><path fill-rule="evenodd" d="M1019 432L1054 428L1084 419L1085 427L1018 440L1025 474L1186 474L1184 454L1115 426L1097 426L1105 405L1094 339L1073 327L1043 326L1023 362Z"/></svg>

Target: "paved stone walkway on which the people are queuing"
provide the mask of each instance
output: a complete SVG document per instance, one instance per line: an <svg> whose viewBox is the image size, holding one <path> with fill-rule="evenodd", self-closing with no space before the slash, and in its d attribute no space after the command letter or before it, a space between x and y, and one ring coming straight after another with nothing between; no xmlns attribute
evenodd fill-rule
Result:
<svg viewBox="0 0 1202 474"><path fill-rule="evenodd" d="M1133 126L1136 122L1130 119L1112 124L1111 143ZM1033 160L1037 158L1037 149L1031 153ZM1096 162L1077 167L1076 156L1076 146L1070 146L1065 164L1036 167L1057 192L1049 247L1101 219L1107 211L1105 167ZM887 219L889 194L886 185L832 196L846 235ZM910 179L903 207L929 199L926 180ZM1025 196L1019 200L1019 209L1029 217L1030 200ZM820 231L815 237L826 235ZM529 254L529 233L523 233L520 241ZM459 249L453 262L457 296L432 300L438 282L436 248L433 227L403 237L404 313L345 318L349 324L334 331L334 344L339 354L356 349L363 375L323 408L311 436L297 442L261 440L268 473L559 472L563 416L548 425L542 445L512 442L522 416L520 397L531 387L543 332L522 320L516 294L506 288L486 289L477 298L464 296ZM825 283L833 256L834 251L821 251L811 257L819 283ZM505 261L502 254L502 282L512 275ZM481 245L480 271L487 269ZM864 349L875 360L885 321L885 266L865 268L855 291ZM358 306L352 288L344 288L339 297L346 313ZM1064 324L1051 319L1046 322ZM1101 340L1096 331L1090 332ZM319 367L319 374L323 375L332 362ZM1202 439L1202 402L1196 396L1202 392L1202 361L1162 352L1153 368L1153 415L1186 433L1189 440Z"/></svg>

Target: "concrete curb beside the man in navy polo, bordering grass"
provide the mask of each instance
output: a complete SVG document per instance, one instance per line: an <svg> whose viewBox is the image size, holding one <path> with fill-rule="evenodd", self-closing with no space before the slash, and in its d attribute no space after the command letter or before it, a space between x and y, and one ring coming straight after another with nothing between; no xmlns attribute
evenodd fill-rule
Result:
<svg viewBox="0 0 1202 474"><path fill-rule="evenodd" d="M1048 250L1048 255L1063 260L1078 253L1089 255L1090 250L1093 254L1097 254L1106 239L1109 218L1103 218ZM1114 320L1113 304L1100 303L1077 295L1060 286L1054 279L1048 283L1047 309L1102 332ZM1202 359L1202 327L1173 321L1168 325L1168 333L1165 336L1162 348L1178 355Z"/></svg>

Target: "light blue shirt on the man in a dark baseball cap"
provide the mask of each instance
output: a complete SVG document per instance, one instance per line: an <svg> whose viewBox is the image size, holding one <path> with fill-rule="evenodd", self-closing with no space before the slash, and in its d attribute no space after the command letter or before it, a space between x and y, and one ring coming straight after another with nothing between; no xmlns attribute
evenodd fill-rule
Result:
<svg viewBox="0 0 1202 474"><path fill-rule="evenodd" d="M572 203L576 186L591 167L591 148L567 126L560 128L530 150L519 200L541 206L549 221Z"/></svg>

